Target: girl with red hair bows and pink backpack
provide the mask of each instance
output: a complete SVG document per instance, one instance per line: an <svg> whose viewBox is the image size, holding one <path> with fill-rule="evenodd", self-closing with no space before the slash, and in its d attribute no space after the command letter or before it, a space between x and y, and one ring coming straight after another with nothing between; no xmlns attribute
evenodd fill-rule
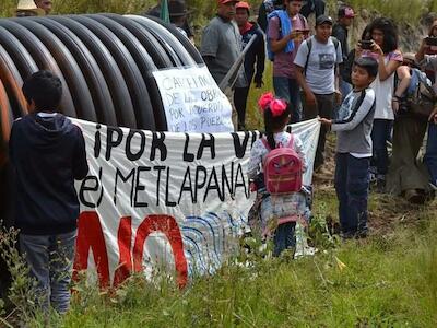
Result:
<svg viewBox="0 0 437 328"><path fill-rule="evenodd" d="M274 256L279 256L284 249L295 247L296 241L294 230L296 221L304 215L306 210L306 197L300 191L298 181L302 181L302 173L306 169L305 156L303 153L303 145L300 140L292 133L285 132L284 128L290 121L290 106L280 99L275 99L271 93L264 94L258 102L258 105L264 116L265 136L258 139L250 152L249 163L249 178L256 179L257 176L265 173L268 167L269 153L277 148L290 148L295 154L296 161L293 165L295 167L285 167L292 161L287 163L276 163L276 167L282 173L295 172L296 184L290 184L291 188L285 185L279 186L282 188L281 194L276 194L269 188L271 183L270 176L265 174L268 180L263 179L263 183L258 186L259 197L262 198L260 206L260 218L263 234L269 234L269 226L271 221L274 221L277 227L274 231ZM290 155L290 154L288 154ZM284 155L287 156L287 155ZM292 159L294 155L291 154ZM281 161L280 161L281 162ZM271 162L270 162L271 163ZM298 168L295 171L295 168ZM300 171L299 171L300 169ZM285 175L277 176L283 183L287 178ZM288 189L287 189L288 188ZM269 192L270 190L270 192ZM292 190L292 191L290 191Z"/></svg>

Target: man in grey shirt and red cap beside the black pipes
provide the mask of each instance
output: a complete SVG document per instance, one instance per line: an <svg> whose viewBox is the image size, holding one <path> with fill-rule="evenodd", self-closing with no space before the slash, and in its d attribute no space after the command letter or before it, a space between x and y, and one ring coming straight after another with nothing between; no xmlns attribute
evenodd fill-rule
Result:
<svg viewBox="0 0 437 328"><path fill-rule="evenodd" d="M234 21L235 5L238 0L217 0L217 15L203 30L200 54L211 75L220 84L238 60L243 50L241 36ZM238 115L234 104L234 87L246 87L244 66L239 67L235 85L227 85L226 96L233 107L232 119L235 130L238 127Z"/></svg>

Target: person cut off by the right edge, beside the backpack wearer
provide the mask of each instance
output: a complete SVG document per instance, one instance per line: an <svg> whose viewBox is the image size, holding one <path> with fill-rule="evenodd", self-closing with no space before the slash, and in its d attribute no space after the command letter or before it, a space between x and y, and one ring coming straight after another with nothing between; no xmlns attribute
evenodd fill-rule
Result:
<svg viewBox="0 0 437 328"><path fill-rule="evenodd" d="M422 68L434 72L435 81L437 81L437 55L425 55L433 42L435 40L429 38L423 39L415 57ZM437 83L433 84L433 89L437 92ZM429 187L437 191L437 106L428 117L428 139L424 162L429 172Z"/></svg>

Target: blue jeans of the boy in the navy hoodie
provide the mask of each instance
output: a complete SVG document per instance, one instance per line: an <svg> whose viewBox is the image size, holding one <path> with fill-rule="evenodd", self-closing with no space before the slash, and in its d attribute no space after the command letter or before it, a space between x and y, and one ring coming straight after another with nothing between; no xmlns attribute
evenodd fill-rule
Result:
<svg viewBox="0 0 437 328"><path fill-rule="evenodd" d="M69 308L76 235L76 230L57 235L20 234L20 249L36 279L45 311L49 304L61 314Z"/></svg>

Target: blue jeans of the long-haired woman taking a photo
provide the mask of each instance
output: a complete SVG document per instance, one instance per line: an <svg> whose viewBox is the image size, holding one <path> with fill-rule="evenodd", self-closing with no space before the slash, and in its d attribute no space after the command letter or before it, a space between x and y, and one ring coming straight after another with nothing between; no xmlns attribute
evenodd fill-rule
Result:
<svg viewBox="0 0 437 328"><path fill-rule="evenodd" d="M373 164L376 166L378 175L386 175L389 167L387 141L391 139L392 126L392 120L374 119L374 128L371 130L371 142L374 144Z"/></svg>

